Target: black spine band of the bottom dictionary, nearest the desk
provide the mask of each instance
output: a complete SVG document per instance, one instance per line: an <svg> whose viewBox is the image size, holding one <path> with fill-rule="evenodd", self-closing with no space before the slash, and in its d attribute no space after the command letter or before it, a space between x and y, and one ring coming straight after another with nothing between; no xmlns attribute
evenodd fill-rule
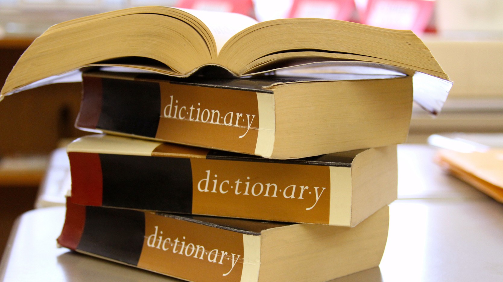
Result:
<svg viewBox="0 0 503 282"><path fill-rule="evenodd" d="M144 236L143 212L88 206L77 249L137 265Z"/></svg>

